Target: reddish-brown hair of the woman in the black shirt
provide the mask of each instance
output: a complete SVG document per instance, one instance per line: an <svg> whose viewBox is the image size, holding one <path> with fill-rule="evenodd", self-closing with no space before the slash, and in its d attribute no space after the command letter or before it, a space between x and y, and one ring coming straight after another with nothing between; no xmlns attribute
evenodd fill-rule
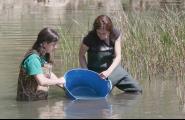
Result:
<svg viewBox="0 0 185 120"><path fill-rule="evenodd" d="M103 28L109 32L112 32L113 25L111 19L106 15L98 16L93 24L93 31L96 31L99 28Z"/></svg>

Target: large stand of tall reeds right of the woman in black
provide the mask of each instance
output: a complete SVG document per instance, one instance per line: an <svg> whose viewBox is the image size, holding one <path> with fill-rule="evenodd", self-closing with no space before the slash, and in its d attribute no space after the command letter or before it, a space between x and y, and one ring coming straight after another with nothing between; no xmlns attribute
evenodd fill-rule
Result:
<svg viewBox="0 0 185 120"><path fill-rule="evenodd" d="M116 16L120 16L118 19ZM175 80L180 104L185 103L185 14L159 10L118 12L116 25L123 33L122 62L135 79L161 76Z"/></svg>

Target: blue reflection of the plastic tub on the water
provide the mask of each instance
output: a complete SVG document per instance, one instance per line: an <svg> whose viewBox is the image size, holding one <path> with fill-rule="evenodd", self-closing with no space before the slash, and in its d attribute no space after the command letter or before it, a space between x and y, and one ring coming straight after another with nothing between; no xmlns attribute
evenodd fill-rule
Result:
<svg viewBox="0 0 185 120"><path fill-rule="evenodd" d="M107 99L75 100L64 108L66 118L110 118L112 106Z"/></svg>

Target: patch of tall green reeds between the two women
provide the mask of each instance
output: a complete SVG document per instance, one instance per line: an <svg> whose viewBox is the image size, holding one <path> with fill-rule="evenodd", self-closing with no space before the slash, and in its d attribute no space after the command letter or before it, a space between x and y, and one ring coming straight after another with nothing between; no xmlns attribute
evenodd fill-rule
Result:
<svg viewBox="0 0 185 120"><path fill-rule="evenodd" d="M85 33L88 32L88 27L76 19L72 19L69 25L64 26L60 24L58 27L61 37L60 53L63 66L62 71L79 67L79 47Z"/></svg>

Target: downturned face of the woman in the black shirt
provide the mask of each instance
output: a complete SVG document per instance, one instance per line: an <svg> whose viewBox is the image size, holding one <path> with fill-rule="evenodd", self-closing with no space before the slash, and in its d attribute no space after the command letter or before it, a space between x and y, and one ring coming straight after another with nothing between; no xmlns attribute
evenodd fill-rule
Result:
<svg viewBox="0 0 185 120"><path fill-rule="evenodd" d="M110 32L103 29L103 28L97 29L96 33L97 33L98 37L100 38L100 40L107 40L110 35Z"/></svg>

